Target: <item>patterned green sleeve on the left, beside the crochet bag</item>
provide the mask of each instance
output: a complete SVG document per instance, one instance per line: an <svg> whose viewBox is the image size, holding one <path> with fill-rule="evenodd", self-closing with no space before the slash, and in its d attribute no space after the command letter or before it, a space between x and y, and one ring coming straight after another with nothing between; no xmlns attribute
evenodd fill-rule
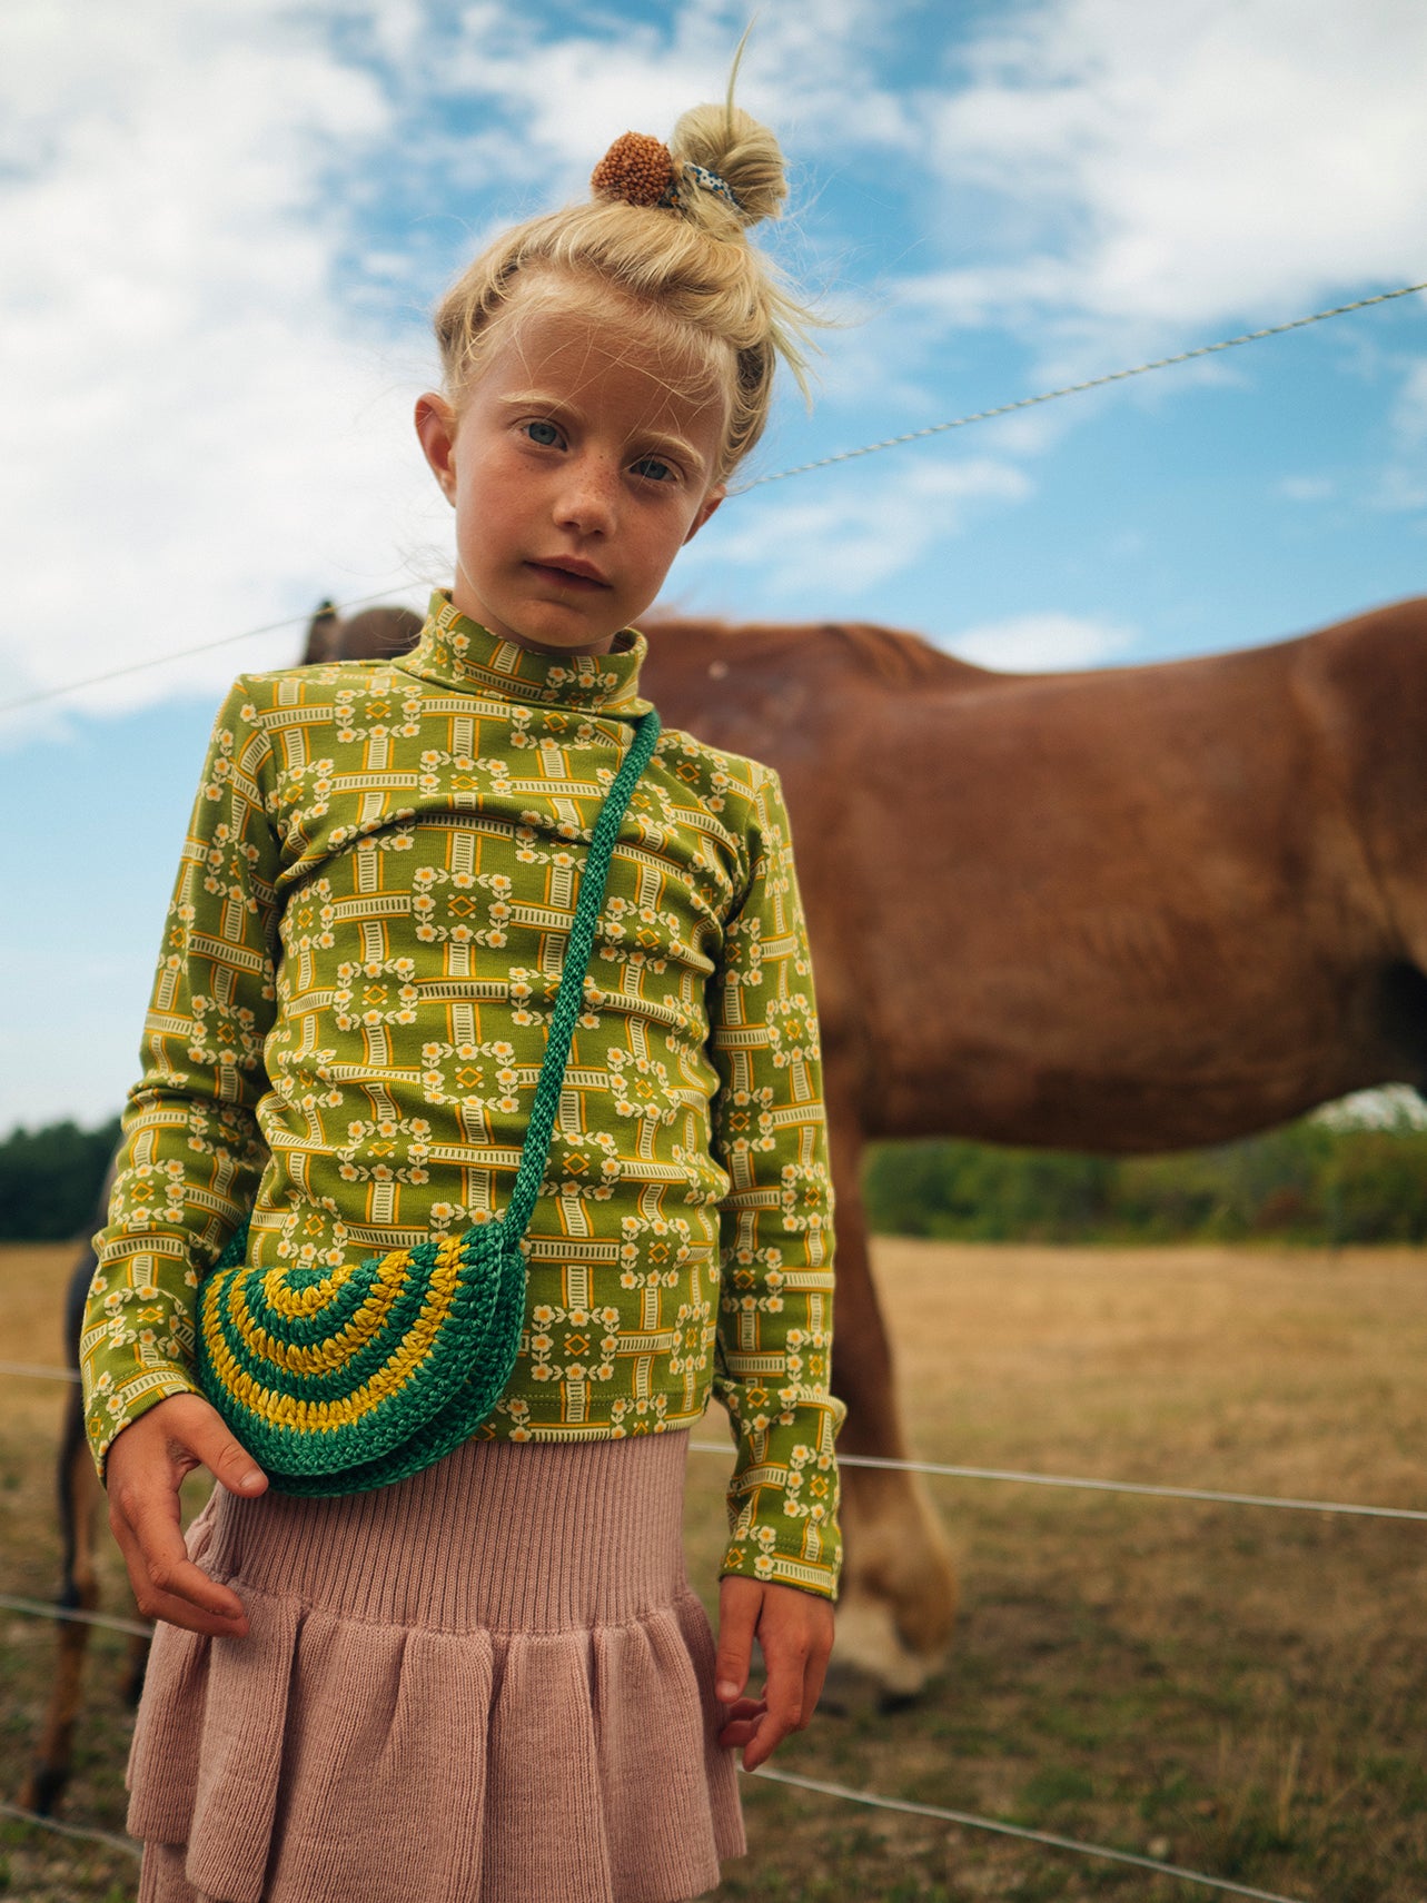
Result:
<svg viewBox="0 0 1427 1903"><path fill-rule="evenodd" d="M270 746L245 683L213 725L145 1020L143 1075L95 1237L80 1344L89 1444L105 1454L167 1395L192 1393L194 1304L266 1163L255 1106L276 1009L278 839Z"/></svg>

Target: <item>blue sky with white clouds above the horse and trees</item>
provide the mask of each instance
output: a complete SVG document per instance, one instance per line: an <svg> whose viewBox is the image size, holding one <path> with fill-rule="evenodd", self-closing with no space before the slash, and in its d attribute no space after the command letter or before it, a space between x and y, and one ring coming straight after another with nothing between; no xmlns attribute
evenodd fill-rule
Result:
<svg viewBox="0 0 1427 1903"><path fill-rule="evenodd" d="M112 1113L213 708L323 598L424 605L428 310L750 0L0 11L0 1130ZM1417 0L761 0L769 249L835 320L771 476L1427 278ZM1423 588L1421 297L733 497L666 605L986 666L1280 639Z"/></svg>

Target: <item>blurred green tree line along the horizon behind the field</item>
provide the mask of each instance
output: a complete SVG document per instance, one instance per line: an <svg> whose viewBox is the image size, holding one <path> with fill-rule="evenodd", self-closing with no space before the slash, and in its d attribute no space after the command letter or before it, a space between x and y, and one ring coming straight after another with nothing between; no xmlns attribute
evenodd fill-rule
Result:
<svg viewBox="0 0 1427 1903"><path fill-rule="evenodd" d="M88 1235L118 1142L51 1123L0 1140L0 1241ZM1073 1155L927 1140L877 1144L864 1191L871 1229L965 1243L1427 1243L1427 1128L1303 1117L1214 1149Z"/></svg>

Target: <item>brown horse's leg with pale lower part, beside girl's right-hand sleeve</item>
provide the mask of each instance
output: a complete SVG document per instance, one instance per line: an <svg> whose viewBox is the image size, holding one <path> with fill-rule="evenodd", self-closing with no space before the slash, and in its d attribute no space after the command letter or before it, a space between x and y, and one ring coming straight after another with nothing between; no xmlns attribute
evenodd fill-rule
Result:
<svg viewBox="0 0 1427 1903"><path fill-rule="evenodd" d="M847 1403L843 1454L906 1460L892 1351L868 1260L862 1144L856 1125L830 1117L837 1191L833 1393ZM957 1576L936 1513L915 1473L843 1467L843 1591L835 1667L854 1667L909 1697L942 1665L957 1616Z"/></svg>

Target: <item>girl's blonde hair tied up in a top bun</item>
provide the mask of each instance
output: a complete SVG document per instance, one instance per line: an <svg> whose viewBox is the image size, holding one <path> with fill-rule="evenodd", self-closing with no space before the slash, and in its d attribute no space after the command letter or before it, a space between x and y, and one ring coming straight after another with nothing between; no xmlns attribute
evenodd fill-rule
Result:
<svg viewBox="0 0 1427 1903"><path fill-rule="evenodd" d="M734 74L738 67L734 61ZM748 228L776 219L788 196L778 141L733 103L693 107L670 139L677 206L635 206L609 194L504 232L462 272L436 308L447 396L460 407L481 373L497 327L519 316L535 284L557 295L575 280L615 322L649 335L715 379L727 398L715 480L727 478L763 434L778 358L807 394L809 331L820 320L778 282ZM721 179L736 204L698 183ZM554 282L552 282L554 280ZM519 295L518 295L519 293Z"/></svg>

